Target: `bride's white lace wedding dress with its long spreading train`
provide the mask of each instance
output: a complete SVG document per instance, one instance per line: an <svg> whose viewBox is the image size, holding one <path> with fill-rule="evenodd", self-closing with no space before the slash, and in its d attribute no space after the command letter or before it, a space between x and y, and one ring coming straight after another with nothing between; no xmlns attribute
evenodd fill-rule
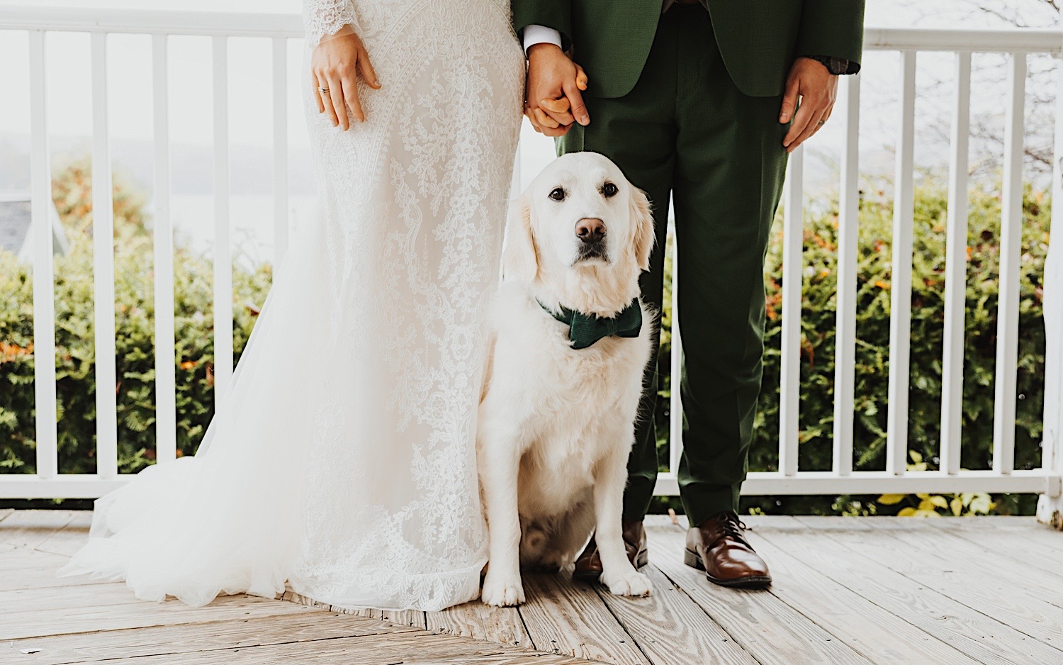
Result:
<svg viewBox="0 0 1063 665"><path fill-rule="evenodd" d="M320 218L279 266L195 458L99 499L64 572L192 605L287 582L336 605L439 610L477 596L486 562L482 314L524 56L509 0L304 14L308 44L354 24L383 88L359 83L367 122L348 132L307 100Z"/></svg>

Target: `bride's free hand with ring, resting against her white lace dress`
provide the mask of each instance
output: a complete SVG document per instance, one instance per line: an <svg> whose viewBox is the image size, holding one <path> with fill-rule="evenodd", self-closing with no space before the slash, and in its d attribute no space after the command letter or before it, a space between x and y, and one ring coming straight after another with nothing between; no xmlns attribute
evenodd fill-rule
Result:
<svg viewBox="0 0 1063 665"><path fill-rule="evenodd" d="M379 88L381 82L369 62L366 46L350 26L321 38L310 54L310 71L317 88L314 94L318 113L327 113L333 127L344 130L351 127L348 109L354 119L365 122L366 114L358 100L358 74L373 88Z"/></svg>

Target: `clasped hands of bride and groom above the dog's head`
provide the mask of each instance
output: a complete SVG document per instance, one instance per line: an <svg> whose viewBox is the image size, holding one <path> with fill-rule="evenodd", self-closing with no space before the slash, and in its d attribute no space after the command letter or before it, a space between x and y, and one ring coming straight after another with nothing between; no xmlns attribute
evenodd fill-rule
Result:
<svg viewBox="0 0 1063 665"><path fill-rule="evenodd" d="M563 136L573 122L588 124L580 90L587 89L587 74L554 44L536 44L528 49L528 80L524 114L537 132Z"/></svg>

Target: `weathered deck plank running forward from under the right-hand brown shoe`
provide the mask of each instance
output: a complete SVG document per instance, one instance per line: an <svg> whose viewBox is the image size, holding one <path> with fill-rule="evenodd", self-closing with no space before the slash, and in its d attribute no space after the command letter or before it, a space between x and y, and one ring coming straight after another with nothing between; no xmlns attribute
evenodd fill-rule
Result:
<svg viewBox="0 0 1063 665"><path fill-rule="evenodd" d="M655 531L651 556L676 585L758 662L870 663L841 639L764 591L738 591L711 584L705 573L682 562L681 530Z"/></svg>

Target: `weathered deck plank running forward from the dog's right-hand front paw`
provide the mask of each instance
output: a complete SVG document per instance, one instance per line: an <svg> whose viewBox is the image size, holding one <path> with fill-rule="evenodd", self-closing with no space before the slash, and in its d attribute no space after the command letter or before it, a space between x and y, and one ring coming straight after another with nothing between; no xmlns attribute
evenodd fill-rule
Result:
<svg viewBox="0 0 1063 665"><path fill-rule="evenodd" d="M598 587L598 595L652 663L756 665L752 655L656 566L642 570L654 584L648 598L613 596L604 586Z"/></svg>

